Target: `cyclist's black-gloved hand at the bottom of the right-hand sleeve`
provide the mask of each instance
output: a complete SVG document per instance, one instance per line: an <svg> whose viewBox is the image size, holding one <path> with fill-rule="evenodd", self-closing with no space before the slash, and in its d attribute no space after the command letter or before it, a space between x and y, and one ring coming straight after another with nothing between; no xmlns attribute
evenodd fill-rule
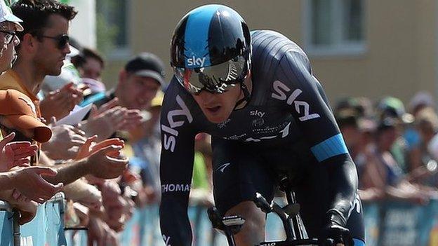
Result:
<svg viewBox="0 0 438 246"><path fill-rule="evenodd" d="M336 246L338 244L345 246L353 246L354 242L350 235L350 230L343 226L339 226L335 222L330 222L321 231L319 236L319 245L321 246Z"/></svg>

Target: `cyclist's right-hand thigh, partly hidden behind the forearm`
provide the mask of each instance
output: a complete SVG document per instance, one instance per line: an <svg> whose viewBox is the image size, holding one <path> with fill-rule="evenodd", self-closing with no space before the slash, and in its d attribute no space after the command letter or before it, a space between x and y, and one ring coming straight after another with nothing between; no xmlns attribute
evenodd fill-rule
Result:
<svg viewBox="0 0 438 246"><path fill-rule="evenodd" d="M328 210L329 191L327 189L329 182L334 180L328 179L328 175L321 167L321 163L307 164L312 165L306 172L304 182L295 187L296 198L300 203L300 214L303 217L305 228L310 237L317 237L323 228L324 218ZM359 240L364 241L364 215L361 207L359 196L354 200L354 207L347 220L347 228L350 230L354 242L359 244Z"/></svg>

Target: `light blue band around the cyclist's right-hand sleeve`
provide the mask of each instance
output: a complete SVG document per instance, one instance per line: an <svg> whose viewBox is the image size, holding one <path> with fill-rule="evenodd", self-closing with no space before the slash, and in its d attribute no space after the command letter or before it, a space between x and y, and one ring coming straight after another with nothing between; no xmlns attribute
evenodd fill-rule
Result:
<svg viewBox="0 0 438 246"><path fill-rule="evenodd" d="M347 146L345 145L343 136L340 133L325 139L323 142L310 148L310 150L312 150L312 153L319 162L333 156L348 153Z"/></svg>

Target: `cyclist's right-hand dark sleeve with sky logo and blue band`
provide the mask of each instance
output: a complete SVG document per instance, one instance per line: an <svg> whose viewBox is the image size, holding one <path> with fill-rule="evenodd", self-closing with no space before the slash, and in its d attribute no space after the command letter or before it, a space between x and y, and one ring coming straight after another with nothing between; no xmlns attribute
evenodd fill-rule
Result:
<svg viewBox="0 0 438 246"><path fill-rule="evenodd" d="M312 75L301 50L286 52L275 72L272 97L284 101L314 157L324 165L331 194L327 222L345 226L357 192L357 170L328 105L321 84Z"/></svg>

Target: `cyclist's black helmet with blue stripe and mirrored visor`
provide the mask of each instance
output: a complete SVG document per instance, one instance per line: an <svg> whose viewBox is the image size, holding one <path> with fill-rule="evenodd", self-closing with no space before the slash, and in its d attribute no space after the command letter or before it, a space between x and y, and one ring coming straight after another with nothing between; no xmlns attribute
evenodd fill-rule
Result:
<svg viewBox="0 0 438 246"><path fill-rule="evenodd" d="M251 34L244 19L223 5L194 8L175 28L171 66L190 93L242 86L251 69Z"/></svg>

